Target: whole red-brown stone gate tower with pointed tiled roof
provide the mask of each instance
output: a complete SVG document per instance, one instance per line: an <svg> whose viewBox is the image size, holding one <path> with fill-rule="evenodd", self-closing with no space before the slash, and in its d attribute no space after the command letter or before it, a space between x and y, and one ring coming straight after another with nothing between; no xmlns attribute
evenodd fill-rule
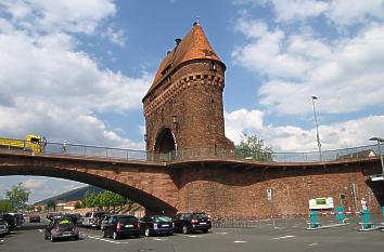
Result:
<svg viewBox="0 0 384 252"><path fill-rule="evenodd" d="M226 65L194 23L161 63L143 97L146 150L231 150L225 135L222 91Z"/></svg>

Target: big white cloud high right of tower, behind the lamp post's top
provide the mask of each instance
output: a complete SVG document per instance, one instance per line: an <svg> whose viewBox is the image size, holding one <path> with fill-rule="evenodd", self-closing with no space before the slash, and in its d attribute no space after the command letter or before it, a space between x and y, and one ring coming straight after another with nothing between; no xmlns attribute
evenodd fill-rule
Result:
<svg viewBox="0 0 384 252"><path fill-rule="evenodd" d="M384 105L384 25L372 23L355 37L332 41L310 34L282 36L283 31L265 27L258 21L240 18L236 29L249 39L232 56L264 77L259 103L269 110L310 112L311 95L320 97L319 109L324 112Z"/></svg>

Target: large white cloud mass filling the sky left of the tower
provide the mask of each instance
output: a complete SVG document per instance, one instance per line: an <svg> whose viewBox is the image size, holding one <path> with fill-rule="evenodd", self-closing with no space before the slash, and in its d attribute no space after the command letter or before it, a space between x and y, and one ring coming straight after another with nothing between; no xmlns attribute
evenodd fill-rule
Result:
<svg viewBox="0 0 384 252"><path fill-rule="evenodd" d="M92 32L115 13L112 1L0 3L0 16L9 13L12 18L0 19L2 134L23 137L33 132L49 141L143 148L143 143L108 129L100 115L140 109L151 77L100 69L89 55L76 51L78 41L68 32Z"/></svg>

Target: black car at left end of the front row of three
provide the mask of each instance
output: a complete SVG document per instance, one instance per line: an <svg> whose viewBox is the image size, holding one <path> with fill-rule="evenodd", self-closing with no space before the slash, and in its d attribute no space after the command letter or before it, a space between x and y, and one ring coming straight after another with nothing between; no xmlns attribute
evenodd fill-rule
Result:
<svg viewBox="0 0 384 252"><path fill-rule="evenodd" d="M112 237L114 240L120 237L140 237L139 220L133 215L114 214L106 223L103 223L103 237Z"/></svg>

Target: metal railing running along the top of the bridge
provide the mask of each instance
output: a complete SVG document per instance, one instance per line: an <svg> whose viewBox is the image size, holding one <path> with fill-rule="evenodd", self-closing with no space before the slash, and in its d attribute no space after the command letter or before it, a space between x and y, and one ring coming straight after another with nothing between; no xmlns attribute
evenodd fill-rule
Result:
<svg viewBox="0 0 384 252"><path fill-rule="evenodd" d="M322 151L322 160L318 151L308 152L249 152L233 149L220 148L188 148L169 152L151 152L145 150L135 150L125 148L111 148L90 145L77 145L67 143L46 143L42 145L35 145L23 140L2 138L0 143L1 148L29 150L35 152L47 152L55 155L72 155L85 157L102 157L110 159L125 159L125 160L141 160L141 161L165 161L171 162L175 160L191 160L204 158L219 158L219 159L236 159L259 162L319 162L319 161L335 161L335 160L359 160L368 157L379 157L377 145L367 145L353 148L335 149ZM28 147L29 146L29 147ZM38 146L38 147L36 147ZM382 144L382 149L384 148Z"/></svg>

